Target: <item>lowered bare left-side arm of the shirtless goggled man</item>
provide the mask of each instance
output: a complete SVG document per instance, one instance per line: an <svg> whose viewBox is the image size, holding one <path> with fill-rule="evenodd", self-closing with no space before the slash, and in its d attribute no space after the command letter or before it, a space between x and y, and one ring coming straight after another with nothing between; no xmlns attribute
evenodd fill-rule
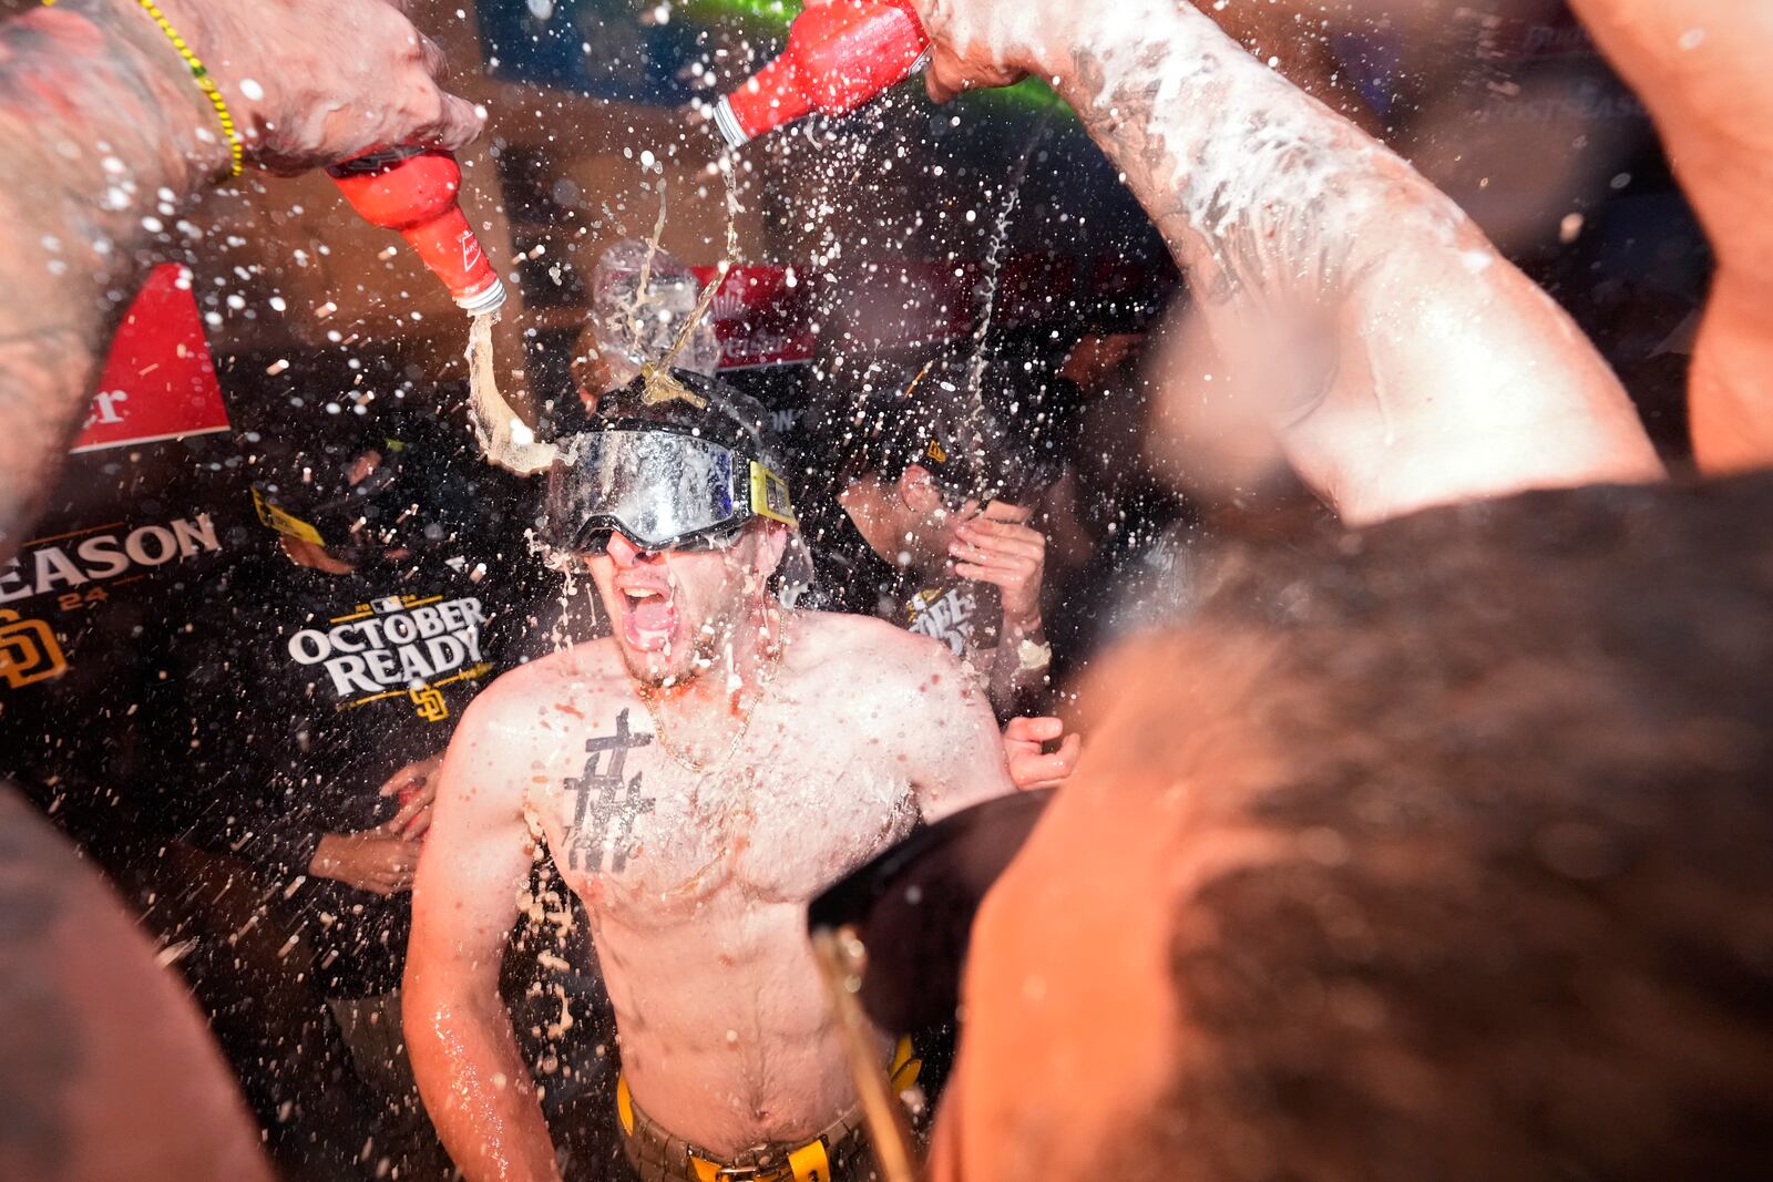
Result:
<svg viewBox="0 0 1773 1182"><path fill-rule="evenodd" d="M406 950L406 1046L426 1109L470 1182L558 1178L548 1125L498 994L498 966L528 884L530 755L498 719L495 684L443 760Z"/></svg>

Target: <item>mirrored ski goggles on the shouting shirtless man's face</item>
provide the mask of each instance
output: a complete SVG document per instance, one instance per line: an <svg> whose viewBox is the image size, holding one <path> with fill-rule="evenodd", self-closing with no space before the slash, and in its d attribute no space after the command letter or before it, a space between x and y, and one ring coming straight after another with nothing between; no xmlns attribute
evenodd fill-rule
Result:
<svg viewBox="0 0 1773 1182"><path fill-rule="evenodd" d="M548 473L546 540L598 555L619 532L640 549L720 549L752 517L798 528L787 480L715 439L622 425L578 434Z"/></svg>

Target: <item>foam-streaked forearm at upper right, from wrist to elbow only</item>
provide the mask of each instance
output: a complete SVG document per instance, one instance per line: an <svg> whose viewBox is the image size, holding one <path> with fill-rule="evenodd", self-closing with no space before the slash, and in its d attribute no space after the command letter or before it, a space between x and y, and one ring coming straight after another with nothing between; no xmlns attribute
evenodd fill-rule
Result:
<svg viewBox="0 0 1773 1182"><path fill-rule="evenodd" d="M1133 0L1048 60L1206 305L1328 307L1376 252L1461 245L1445 195L1183 0Z"/></svg>

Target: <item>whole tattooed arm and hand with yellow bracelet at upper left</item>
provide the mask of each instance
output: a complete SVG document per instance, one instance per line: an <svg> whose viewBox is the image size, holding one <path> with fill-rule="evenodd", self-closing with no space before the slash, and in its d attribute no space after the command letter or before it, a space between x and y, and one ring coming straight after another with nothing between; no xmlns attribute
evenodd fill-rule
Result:
<svg viewBox="0 0 1773 1182"><path fill-rule="evenodd" d="M273 172L479 131L433 82L436 46L385 0L158 7ZM227 165L215 110L137 0L0 25L0 560L48 494L137 280Z"/></svg>

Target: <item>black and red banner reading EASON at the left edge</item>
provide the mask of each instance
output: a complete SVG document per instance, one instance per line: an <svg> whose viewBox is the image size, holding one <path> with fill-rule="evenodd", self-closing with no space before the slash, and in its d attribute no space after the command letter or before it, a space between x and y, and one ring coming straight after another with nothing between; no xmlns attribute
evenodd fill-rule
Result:
<svg viewBox="0 0 1773 1182"><path fill-rule="evenodd" d="M200 463L227 431L190 273L161 266L122 319L35 537L0 564L0 773L55 790L117 773L142 654L167 624L160 579L200 578L230 549L229 498Z"/></svg>

